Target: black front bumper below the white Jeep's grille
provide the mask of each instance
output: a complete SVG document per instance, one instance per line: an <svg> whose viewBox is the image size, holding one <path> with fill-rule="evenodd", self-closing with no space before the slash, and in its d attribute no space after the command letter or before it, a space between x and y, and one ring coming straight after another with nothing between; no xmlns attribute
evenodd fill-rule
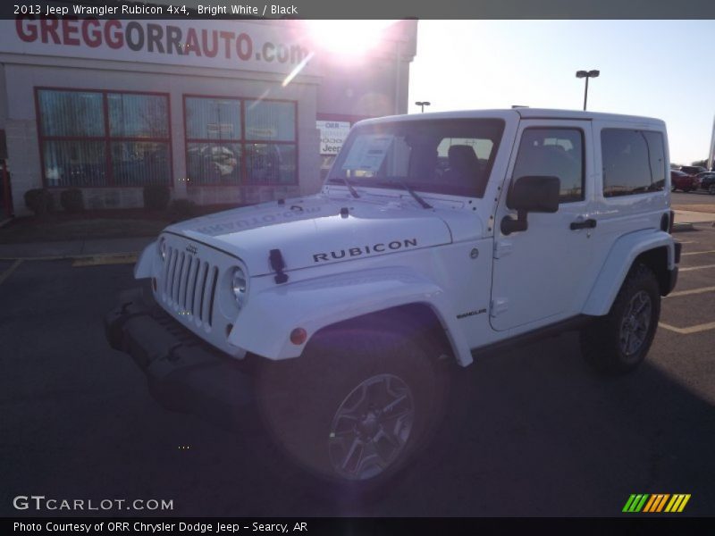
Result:
<svg viewBox="0 0 715 536"><path fill-rule="evenodd" d="M218 420L254 413L246 411L255 399L252 376L166 314L146 289L122 293L105 316L105 335L139 365L163 406Z"/></svg>

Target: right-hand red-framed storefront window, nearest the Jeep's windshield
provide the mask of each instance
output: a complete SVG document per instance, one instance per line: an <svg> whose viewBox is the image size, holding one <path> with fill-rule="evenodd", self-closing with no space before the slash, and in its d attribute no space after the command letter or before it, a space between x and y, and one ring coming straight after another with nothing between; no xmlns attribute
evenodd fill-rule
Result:
<svg viewBox="0 0 715 536"><path fill-rule="evenodd" d="M296 105L186 96L189 186L296 184Z"/></svg>

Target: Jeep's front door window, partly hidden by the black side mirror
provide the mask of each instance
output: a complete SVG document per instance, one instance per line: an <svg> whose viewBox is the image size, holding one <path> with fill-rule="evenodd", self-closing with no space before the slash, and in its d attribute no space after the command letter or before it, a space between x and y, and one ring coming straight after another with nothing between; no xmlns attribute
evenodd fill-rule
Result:
<svg viewBox="0 0 715 536"><path fill-rule="evenodd" d="M583 201L584 133L578 129L524 130L514 165L514 180L527 175L558 177L560 203Z"/></svg>

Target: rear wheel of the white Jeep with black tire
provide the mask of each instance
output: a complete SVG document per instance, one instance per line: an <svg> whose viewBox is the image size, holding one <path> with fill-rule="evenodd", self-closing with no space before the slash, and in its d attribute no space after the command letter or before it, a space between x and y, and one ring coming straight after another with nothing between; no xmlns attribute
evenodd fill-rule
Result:
<svg viewBox="0 0 715 536"><path fill-rule="evenodd" d="M637 307L644 307L640 314L635 314ZM633 371L648 354L659 319L658 281L650 268L636 264L609 314L598 317L581 331L581 353L598 372Z"/></svg>

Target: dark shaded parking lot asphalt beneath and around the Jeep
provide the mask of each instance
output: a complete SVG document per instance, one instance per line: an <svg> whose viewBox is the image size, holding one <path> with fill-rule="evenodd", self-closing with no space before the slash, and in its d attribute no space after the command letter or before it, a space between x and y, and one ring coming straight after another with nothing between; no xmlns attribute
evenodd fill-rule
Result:
<svg viewBox="0 0 715 536"><path fill-rule="evenodd" d="M677 239L680 280L641 368L595 375L574 333L482 356L433 445L365 502L307 487L241 415L157 406L102 326L130 264L0 261L0 515L81 514L13 508L32 494L173 501L156 515L621 515L632 493L688 493L682 515L715 515L715 229Z"/></svg>

